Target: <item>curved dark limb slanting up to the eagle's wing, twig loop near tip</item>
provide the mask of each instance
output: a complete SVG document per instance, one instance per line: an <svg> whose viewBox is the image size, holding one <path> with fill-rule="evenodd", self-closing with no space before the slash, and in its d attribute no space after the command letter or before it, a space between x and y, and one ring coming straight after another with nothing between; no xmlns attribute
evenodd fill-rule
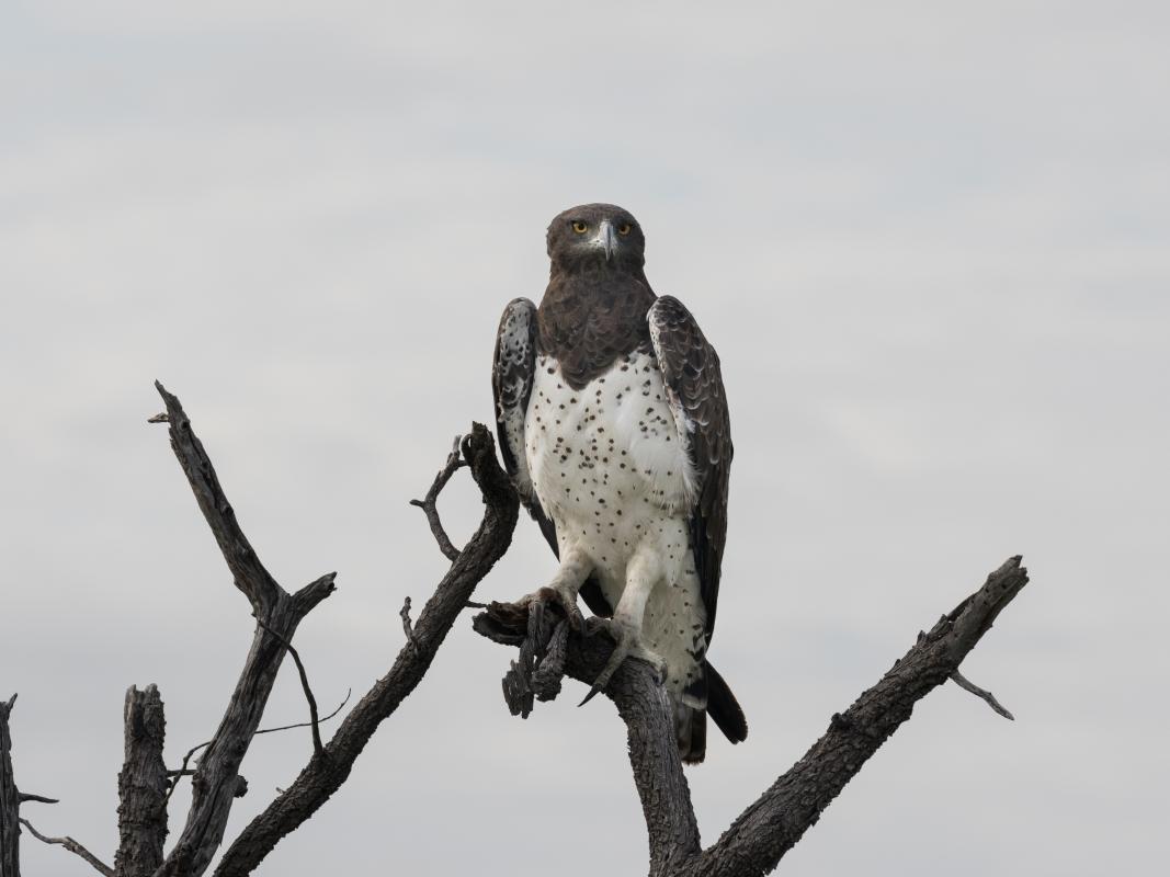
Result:
<svg viewBox="0 0 1170 877"><path fill-rule="evenodd" d="M476 423L472 434L463 438L461 450L462 461L470 467L472 477L483 496L484 511L479 529L463 550L456 552L450 568L413 624L413 638L404 644L390 672L355 705L325 744L324 753L314 755L292 785L243 829L223 854L215 877L252 873L282 837L316 813L345 782L378 725L422 679L476 585L511 544L518 500L496 461L495 442L487 428ZM438 496L438 490L450 477L448 469L454 471L449 457L448 465L435 479L438 488L433 486L428 496L432 492ZM429 520L431 516L427 517Z"/></svg>

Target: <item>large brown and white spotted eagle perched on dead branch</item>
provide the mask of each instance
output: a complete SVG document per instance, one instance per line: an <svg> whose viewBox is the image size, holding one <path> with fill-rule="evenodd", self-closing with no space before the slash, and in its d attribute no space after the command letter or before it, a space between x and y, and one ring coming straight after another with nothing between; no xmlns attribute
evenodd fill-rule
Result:
<svg viewBox="0 0 1170 877"><path fill-rule="evenodd" d="M707 661L731 434L715 348L651 290L645 244L613 205L556 216L544 298L508 305L491 384L508 471L560 561L549 588L577 620L579 592L618 643L593 692L629 655L655 663L697 762L708 711L731 743L748 734Z"/></svg>

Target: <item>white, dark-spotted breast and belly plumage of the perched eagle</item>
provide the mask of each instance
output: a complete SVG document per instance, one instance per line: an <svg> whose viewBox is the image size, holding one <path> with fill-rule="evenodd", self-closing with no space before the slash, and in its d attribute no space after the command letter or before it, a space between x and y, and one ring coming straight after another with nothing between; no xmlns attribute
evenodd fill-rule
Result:
<svg viewBox="0 0 1170 877"><path fill-rule="evenodd" d="M654 358L619 358L573 389L555 360L538 357L524 436L532 488L562 555L573 547L591 558L611 607L629 558L641 551L656 559L661 578L642 635L681 697L701 672L707 615L690 546L694 472Z"/></svg>

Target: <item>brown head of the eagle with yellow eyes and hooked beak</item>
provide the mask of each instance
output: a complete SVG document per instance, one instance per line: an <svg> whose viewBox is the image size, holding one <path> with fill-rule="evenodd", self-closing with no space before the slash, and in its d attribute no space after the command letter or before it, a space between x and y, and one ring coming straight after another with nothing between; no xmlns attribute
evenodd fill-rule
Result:
<svg viewBox="0 0 1170 877"><path fill-rule="evenodd" d="M640 274L646 237L629 210L612 203L584 203L558 213L549 223L553 270L608 268Z"/></svg>

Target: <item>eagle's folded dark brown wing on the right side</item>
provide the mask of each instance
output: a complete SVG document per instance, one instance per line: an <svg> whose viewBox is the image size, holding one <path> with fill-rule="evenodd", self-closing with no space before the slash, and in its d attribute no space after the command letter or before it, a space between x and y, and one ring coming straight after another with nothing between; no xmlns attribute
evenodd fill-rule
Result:
<svg viewBox="0 0 1170 877"><path fill-rule="evenodd" d="M659 298L647 319L679 438L694 467L690 541L709 640L727 543L728 476L734 451L723 374L718 354L677 298Z"/></svg>

